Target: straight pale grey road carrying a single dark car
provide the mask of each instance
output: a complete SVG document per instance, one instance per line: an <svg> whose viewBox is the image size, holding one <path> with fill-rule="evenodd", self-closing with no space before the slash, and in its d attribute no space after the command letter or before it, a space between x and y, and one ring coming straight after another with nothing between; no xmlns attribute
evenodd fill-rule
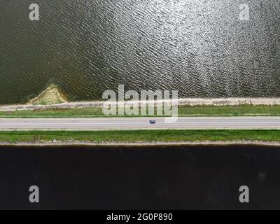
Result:
<svg viewBox="0 0 280 224"><path fill-rule="evenodd" d="M154 125L149 120L156 120ZM279 129L280 117L0 118L0 130Z"/></svg>

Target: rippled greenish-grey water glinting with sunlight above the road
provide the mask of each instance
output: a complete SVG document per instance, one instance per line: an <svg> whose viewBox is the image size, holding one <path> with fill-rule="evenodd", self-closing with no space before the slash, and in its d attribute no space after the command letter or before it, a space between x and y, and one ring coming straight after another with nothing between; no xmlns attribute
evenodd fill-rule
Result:
<svg viewBox="0 0 280 224"><path fill-rule="evenodd" d="M71 100L107 89L180 97L280 97L280 2L0 0L0 103L57 83Z"/></svg>

